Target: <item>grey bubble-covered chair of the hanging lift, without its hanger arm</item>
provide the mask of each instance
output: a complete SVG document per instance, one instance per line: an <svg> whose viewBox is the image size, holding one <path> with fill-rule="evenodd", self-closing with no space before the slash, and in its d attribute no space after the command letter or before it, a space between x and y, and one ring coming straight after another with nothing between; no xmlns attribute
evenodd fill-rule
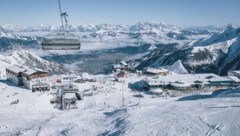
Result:
<svg viewBox="0 0 240 136"><path fill-rule="evenodd" d="M80 38L71 33L53 33L43 37L43 50L80 50Z"/></svg>

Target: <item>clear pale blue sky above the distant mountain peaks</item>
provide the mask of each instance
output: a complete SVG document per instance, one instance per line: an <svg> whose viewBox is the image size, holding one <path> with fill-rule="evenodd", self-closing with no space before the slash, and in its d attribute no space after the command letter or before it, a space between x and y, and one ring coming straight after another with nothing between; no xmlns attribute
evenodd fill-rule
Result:
<svg viewBox="0 0 240 136"><path fill-rule="evenodd" d="M61 0L69 23L240 24L240 0ZM60 25L57 0L1 0L0 24Z"/></svg>

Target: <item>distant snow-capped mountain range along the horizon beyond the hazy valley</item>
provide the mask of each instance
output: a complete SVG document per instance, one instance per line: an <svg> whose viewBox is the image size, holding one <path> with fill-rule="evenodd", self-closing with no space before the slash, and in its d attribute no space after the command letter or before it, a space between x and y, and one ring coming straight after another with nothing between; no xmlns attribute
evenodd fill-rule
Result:
<svg viewBox="0 0 240 136"><path fill-rule="evenodd" d="M18 26L18 25L4 25L3 28L7 32L15 34L31 33L31 36L37 36L59 30L58 26L39 25L39 26ZM211 28L211 29L210 29ZM120 43L176 43L178 40L192 39L193 35L211 35L222 30L222 27L189 27L180 28L174 25L165 23L137 23L135 25L112 25L112 24L98 24L98 25L80 25L69 26L68 31L75 32L81 35L82 41L90 42L120 42ZM208 30L209 29L209 30Z"/></svg>

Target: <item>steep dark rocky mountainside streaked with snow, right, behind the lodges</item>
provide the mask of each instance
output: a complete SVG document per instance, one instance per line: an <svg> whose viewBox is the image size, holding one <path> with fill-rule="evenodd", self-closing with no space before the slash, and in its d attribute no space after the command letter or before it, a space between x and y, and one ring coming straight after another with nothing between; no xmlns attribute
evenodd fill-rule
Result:
<svg viewBox="0 0 240 136"><path fill-rule="evenodd" d="M239 39L240 28L228 26L224 31L203 39L160 46L130 63L142 69L168 66L181 60L188 72L227 75L228 70L240 69Z"/></svg>

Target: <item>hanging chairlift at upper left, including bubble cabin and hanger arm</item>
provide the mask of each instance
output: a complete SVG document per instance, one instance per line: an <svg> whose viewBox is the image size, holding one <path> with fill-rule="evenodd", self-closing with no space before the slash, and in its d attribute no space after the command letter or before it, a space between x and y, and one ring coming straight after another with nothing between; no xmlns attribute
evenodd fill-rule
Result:
<svg viewBox="0 0 240 136"><path fill-rule="evenodd" d="M77 34L69 33L66 29L68 27L67 13L62 12L60 0L58 0L59 11L62 23L62 30L43 36L42 49L43 50L80 50L80 37ZM63 24L65 21L65 26Z"/></svg>

